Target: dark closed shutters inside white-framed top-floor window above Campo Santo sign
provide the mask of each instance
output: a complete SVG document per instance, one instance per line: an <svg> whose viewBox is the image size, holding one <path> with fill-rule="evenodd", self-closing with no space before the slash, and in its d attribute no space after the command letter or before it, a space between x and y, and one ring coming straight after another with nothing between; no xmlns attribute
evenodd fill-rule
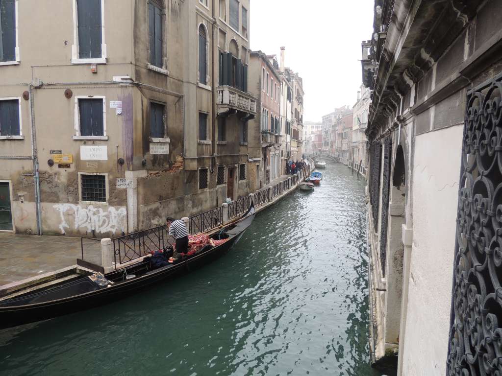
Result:
<svg viewBox="0 0 502 376"><path fill-rule="evenodd" d="M101 58L101 1L77 0L78 56Z"/></svg>

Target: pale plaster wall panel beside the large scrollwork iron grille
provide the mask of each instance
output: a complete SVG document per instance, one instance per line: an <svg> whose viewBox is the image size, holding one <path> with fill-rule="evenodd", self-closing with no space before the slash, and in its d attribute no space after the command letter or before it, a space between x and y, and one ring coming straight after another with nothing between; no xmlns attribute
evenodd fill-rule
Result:
<svg viewBox="0 0 502 376"><path fill-rule="evenodd" d="M416 137L403 375L444 375L462 126Z"/></svg>

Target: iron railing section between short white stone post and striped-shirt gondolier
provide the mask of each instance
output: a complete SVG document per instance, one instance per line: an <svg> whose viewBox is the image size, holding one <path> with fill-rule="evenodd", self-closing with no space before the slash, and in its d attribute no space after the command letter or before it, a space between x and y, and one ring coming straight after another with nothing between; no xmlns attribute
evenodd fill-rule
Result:
<svg viewBox="0 0 502 376"><path fill-rule="evenodd" d="M158 251L167 246L172 246L174 238L169 235L166 225L153 229L139 231L113 239L115 265L132 261L145 256L151 251Z"/></svg>

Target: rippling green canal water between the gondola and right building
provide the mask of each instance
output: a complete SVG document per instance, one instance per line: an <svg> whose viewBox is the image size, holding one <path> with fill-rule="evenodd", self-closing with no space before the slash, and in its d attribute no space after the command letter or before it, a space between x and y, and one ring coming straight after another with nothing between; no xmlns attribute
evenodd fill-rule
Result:
<svg viewBox="0 0 502 376"><path fill-rule="evenodd" d="M323 174L199 271L0 332L0 374L381 375L368 365L364 180L335 163Z"/></svg>

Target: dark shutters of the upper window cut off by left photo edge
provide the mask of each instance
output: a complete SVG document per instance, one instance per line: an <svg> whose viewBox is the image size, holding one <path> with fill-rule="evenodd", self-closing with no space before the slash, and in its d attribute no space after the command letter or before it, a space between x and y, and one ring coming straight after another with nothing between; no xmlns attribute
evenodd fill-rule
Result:
<svg viewBox="0 0 502 376"><path fill-rule="evenodd" d="M16 60L16 0L0 0L0 62Z"/></svg>

